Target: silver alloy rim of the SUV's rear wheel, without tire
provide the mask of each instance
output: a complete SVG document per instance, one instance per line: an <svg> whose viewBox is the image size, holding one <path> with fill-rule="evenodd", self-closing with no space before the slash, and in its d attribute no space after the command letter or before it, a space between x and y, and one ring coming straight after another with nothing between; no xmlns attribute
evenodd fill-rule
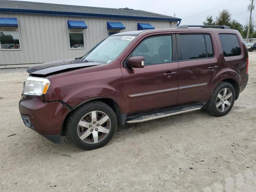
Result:
<svg viewBox="0 0 256 192"><path fill-rule="evenodd" d="M229 88L222 89L216 98L216 107L220 112L224 112L230 108L232 103L232 91Z"/></svg>

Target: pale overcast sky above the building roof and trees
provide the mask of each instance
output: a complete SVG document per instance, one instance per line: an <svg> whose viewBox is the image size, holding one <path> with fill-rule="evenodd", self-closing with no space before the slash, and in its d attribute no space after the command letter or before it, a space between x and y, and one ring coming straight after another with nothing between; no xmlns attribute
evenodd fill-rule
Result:
<svg viewBox="0 0 256 192"><path fill-rule="evenodd" d="M207 16L215 19L223 9L228 9L232 19L241 24L248 22L250 12L247 7L250 0L28 0L67 5L107 7L107 8L132 8L168 16L181 18L181 24L202 24ZM111 14L111 13L110 13ZM256 21L255 10L252 12ZM255 19L254 19L255 18Z"/></svg>

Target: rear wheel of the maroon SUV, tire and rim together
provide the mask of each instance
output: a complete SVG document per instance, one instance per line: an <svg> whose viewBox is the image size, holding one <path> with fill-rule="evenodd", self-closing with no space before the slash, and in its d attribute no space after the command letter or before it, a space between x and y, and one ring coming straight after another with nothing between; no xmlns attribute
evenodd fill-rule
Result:
<svg viewBox="0 0 256 192"><path fill-rule="evenodd" d="M213 116L224 116L232 109L236 92L232 84L220 82L208 102L205 105L206 111Z"/></svg>

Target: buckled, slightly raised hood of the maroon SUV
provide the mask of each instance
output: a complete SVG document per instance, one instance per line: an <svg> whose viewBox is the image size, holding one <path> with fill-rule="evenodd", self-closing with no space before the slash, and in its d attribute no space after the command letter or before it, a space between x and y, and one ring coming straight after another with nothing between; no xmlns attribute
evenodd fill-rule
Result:
<svg viewBox="0 0 256 192"><path fill-rule="evenodd" d="M27 72L35 76L48 76L60 72L74 70L78 68L85 68L90 66L100 65L95 62L85 62L77 59L61 60L39 64L33 67L29 67Z"/></svg>

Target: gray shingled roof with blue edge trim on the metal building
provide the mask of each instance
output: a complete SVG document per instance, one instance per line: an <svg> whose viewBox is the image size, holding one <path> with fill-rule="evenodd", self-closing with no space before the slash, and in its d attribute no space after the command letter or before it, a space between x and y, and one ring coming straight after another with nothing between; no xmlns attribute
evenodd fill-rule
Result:
<svg viewBox="0 0 256 192"><path fill-rule="evenodd" d="M140 18L150 20L180 21L180 18L167 16L144 10L100 8L90 6L77 6L65 4L51 4L42 2L0 0L0 12L14 12L24 14L57 14L70 16L90 16L105 18ZM111 13L111 14L109 14Z"/></svg>

